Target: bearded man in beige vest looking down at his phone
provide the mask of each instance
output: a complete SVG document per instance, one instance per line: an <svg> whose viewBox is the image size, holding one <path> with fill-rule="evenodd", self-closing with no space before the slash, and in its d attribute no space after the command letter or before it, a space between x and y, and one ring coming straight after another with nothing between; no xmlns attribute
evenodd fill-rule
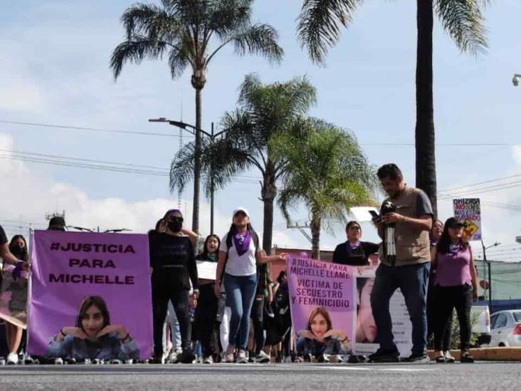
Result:
<svg viewBox="0 0 521 391"><path fill-rule="evenodd" d="M431 252L428 233L433 210L431 201L420 189L407 187L399 168L390 163L377 172L387 197L380 215L373 218L383 240L371 293L371 306L377 325L380 348L369 356L372 363L399 362L394 344L389 301L400 288L412 323L412 354L406 361L427 362L426 295Z"/></svg>

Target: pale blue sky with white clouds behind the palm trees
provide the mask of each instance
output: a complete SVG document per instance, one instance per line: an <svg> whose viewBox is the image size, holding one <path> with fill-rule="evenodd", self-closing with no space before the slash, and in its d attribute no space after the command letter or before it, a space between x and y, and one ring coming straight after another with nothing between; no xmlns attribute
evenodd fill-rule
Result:
<svg viewBox="0 0 521 391"><path fill-rule="evenodd" d="M125 66L114 82L108 67L110 54L124 38L119 19L132 3L26 0L4 4L0 14L0 120L173 136L179 134L174 127L149 123L147 119L162 116L193 123L194 91L189 72L172 80L166 63L149 61L141 66ZM204 128L209 129L211 122L218 123L226 110L233 110L237 88L247 73L258 73L266 83L307 75L318 91L318 102L311 114L352 130L374 165L396 162L407 182L414 184L414 147L374 144L414 142L415 5L404 0L367 1L355 14L352 26L342 30L326 66L319 67L308 60L296 39L295 19L301 3L256 1L253 19L278 30L284 61L272 67L263 58L239 58L231 48L223 50L211 64L204 88ZM519 1L493 2L485 10L490 48L478 57L461 55L441 27L435 26L434 98L440 191L521 173L521 147L517 147L521 145L521 87L514 88L511 82L513 73L521 73L520 15ZM185 142L189 139L185 134ZM167 170L178 147L178 137L0 122L0 156L4 157L12 157L11 150L21 150ZM0 159L0 172L4 177L0 224L9 234L23 231L28 222L41 226L46 212L63 209L70 224L145 231L164 209L177 204L177 194L169 193L167 177L5 158ZM251 210L253 224L261 230L262 205L255 183L258 177L258 172L246 172L242 182L216 194L219 233L226 230L237 199ZM188 220L190 190L191 186L184 192L182 205ZM514 237L521 235L517 222L521 208L511 206L521 206L518 194L515 187L468 193L469 197L483 199L486 244L499 240L509 251L515 246ZM201 227L206 234L209 214L205 199L204 203ZM441 217L451 214L450 197L440 200L439 209ZM304 221L307 212L299 209L294 217ZM336 237L327 234L322 238L323 248L331 249L344 239L341 226L334 226L334 231ZM369 226L364 234L366 239L375 239ZM309 246L300 232L285 229L278 212L274 243ZM497 254L498 259L512 260L506 254L516 253ZM504 254L502 258L500 254Z"/></svg>

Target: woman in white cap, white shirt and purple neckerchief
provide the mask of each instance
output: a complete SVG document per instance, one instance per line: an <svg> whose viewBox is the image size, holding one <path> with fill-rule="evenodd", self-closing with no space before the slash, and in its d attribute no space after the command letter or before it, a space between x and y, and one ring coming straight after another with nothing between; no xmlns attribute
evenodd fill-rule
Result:
<svg viewBox="0 0 521 391"><path fill-rule="evenodd" d="M231 308L226 363L248 363L246 348L250 332L250 313L257 286L257 265L285 261L285 254L264 256L258 235L250 224L248 209L233 211L233 223L219 247L215 295L219 297L221 283L226 291L226 306Z"/></svg>

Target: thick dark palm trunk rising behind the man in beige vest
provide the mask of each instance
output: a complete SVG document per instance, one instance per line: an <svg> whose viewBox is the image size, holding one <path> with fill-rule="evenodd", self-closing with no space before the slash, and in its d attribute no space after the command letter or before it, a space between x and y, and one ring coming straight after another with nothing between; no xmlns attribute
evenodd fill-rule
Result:
<svg viewBox="0 0 521 391"><path fill-rule="evenodd" d="M416 0L418 46L416 48L416 187L436 202L436 153L433 108L433 0Z"/></svg>

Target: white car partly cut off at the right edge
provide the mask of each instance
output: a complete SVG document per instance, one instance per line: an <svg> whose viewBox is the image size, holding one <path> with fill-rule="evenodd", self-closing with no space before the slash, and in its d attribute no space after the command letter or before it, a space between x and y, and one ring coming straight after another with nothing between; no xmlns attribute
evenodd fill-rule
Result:
<svg viewBox="0 0 521 391"><path fill-rule="evenodd" d="M490 316L489 346L521 346L521 310L505 310Z"/></svg>

